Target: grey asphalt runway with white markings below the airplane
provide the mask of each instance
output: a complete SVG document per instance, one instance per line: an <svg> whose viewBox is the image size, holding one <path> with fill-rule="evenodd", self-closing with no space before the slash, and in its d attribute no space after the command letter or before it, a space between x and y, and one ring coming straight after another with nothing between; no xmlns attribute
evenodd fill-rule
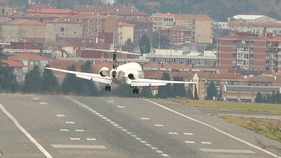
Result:
<svg viewBox="0 0 281 158"><path fill-rule="evenodd" d="M278 158L281 148L154 99L1 93L0 109L1 158Z"/></svg>

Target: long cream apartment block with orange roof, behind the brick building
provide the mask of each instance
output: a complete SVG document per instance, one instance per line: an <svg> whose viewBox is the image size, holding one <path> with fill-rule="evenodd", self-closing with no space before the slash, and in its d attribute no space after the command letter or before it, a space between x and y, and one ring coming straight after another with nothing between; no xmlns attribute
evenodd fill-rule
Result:
<svg viewBox="0 0 281 158"><path fill-rule="evenodd" d="M184 26L192 30L193 43L212 43L213 19L206 15L156 13L151 16L153 31L172 26Z"/></svg>

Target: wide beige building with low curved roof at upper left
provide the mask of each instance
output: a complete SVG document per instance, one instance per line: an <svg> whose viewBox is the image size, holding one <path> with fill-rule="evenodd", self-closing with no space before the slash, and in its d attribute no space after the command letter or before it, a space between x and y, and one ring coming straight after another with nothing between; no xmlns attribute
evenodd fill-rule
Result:
<svg viewBox="0 0 281 158"><path fill-rule="evenodd" d="M46 23L46 44L54 43L57 37L82 37L83 24L73 19L62 18Z"/></svg>

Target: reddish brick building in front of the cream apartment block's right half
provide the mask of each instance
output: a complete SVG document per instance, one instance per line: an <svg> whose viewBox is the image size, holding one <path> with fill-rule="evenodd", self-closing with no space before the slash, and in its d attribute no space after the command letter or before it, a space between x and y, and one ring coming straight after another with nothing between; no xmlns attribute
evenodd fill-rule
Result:
<svg viewBox="0 0 281 158"><path fill-rule="evenodd" d="M166 29L170 35L170 45L181 47L192 43L192 30L185 26L172 26Z"/></svg>

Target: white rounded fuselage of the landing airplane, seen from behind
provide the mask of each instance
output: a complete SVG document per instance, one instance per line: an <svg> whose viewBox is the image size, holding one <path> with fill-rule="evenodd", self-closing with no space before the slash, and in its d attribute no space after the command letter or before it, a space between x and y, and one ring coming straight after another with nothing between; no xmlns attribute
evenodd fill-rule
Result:
<svg viewBox="0 0 281 158"><path fill-rule="evenodd" d="M114 77L114 73L116 73L115 77ZM118 66L117 69L110 70L110 78L112 82L119 85L120 84L130 85L133 79L140 78L141 75L142 75L141 66L134 62L123 64Z"/></svg>

